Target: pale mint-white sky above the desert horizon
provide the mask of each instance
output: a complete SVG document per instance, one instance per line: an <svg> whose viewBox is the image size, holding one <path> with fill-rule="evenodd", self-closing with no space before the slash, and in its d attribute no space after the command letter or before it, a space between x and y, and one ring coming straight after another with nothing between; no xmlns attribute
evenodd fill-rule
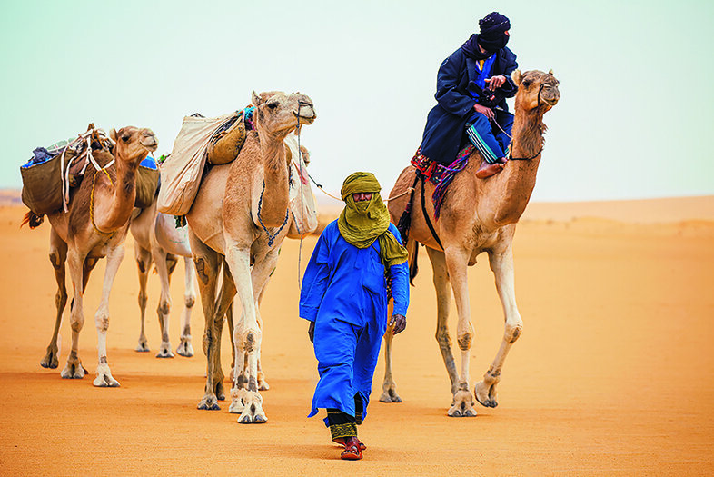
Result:
<svg viewBox="0 0 714 477"><path fill-rule="evenodd" d="M441 61L494 10L521 70L560 80L533 201L714 194L714 2L691 0L3 0L0 188L22 186L35 147L90 122L151 127L169 153L184 115L283 90L315 104L302 132L315 180L335 193L371 171L386 196L421 142Z"/></svg>

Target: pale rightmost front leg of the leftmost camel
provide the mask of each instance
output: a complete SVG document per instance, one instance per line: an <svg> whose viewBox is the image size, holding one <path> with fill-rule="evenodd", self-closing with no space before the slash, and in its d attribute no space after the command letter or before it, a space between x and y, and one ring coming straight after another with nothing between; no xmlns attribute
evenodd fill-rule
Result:
<svg viewBox="0 0 714 477"><path fill-rule="evenodd" d="M96 378L94 386L97 387L118 387L119 382L114 379L109 369L109 362L106 358L106 332L109 330L109 293L112 292L114 278L119 271L119 265L124 259L124 245L118 245L109 250L106 254L106 270L104 272L104 283L102 285L102 300L94 314L94 324L96 325L96 349L99 354L99 364L96 367Z"/></svg>

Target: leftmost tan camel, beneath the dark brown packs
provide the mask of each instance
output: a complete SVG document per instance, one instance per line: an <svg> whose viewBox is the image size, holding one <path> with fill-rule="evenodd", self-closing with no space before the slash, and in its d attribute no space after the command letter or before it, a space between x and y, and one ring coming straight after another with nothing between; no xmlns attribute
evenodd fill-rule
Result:
<svg viewBox="0 0 714 477"><path fill-rule="evenodd" d="M150 129L127 126L110 132L114 141L114 157L94 137L92 147L102 147L93 152L97 163L104 166L115 159L114 165L100 171L88 168L82 183L74 189L68 212L48 214L50 231L50 262L55 268L57 293L55 305L55 331L47 353L40 363L45 368L58 365L57 334L64 306L67 303L64 263L69 265L74 296L70 305L72 349L62 370L62 377L81 379L87 373L79 358L79 332L84 325L83 295L89 275L100 258L106 257L106 271L102 299L94 315L97 331L99 363L94 386L116 387L119 382L112 376L106 356L106 332L109 328L109 293L119 264L124 257L124 238L129 230L129 219L134 210L136 195L136 170L158 143ZM42 216L30 212L25 216L31 227L42 223Z"/></svg>

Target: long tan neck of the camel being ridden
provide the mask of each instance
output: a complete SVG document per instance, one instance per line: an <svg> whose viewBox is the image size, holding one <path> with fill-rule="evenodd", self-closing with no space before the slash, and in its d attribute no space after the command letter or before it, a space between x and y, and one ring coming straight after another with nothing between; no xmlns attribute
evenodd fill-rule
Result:
<svg viewBox="0 0 714 477"><path fill-rule="evenodd" d="M543 146L542 119L542 113L526 113L516 108L511 157L523 160L509 161L501 174L487 179L490 200L481 203L480 216L489 217L496 227L518 222L531 199Z"/></svg>

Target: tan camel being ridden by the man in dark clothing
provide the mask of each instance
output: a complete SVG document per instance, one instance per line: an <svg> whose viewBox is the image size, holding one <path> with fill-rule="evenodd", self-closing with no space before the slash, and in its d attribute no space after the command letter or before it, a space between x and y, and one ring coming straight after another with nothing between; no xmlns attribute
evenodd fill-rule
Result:
<svg viewBox="0 0 714 477"><path fill-rule="evenodd" d="M436 340L441 349L446 370L451 380L453 401L448 415L452 417L475 416L473 398L469 390L469 353L473 337L471 308L467 283L467 266L476 263L476 256L488 253L491 270L495 276L496 290L505 315L505 330L501 347L483 380L474 386L476 401L486 407L498 405L496 386L501 380L501 370L511 346L521 335L523 322L516 306L511 243L521 214L529 202L543 149L543 114L560 99L558 80L550 73L537 70L511 75L519 86L515 97L515 121L512 130L511 161L500 173L488 179L476 178L481 165L481 155L474 151L469 164L453 179L441 204L441 217L434 219L432 201L425 200L426 209L443 249L431 234L422 213L421 198L431 197L434 186L427 181L425 192L416 184L413 196L412 224L406 243L410 252L410 270L416 274L418 243L427 247L433 269L433 283L437 298ZM517 160L521 159L521 160ZM403 194L414 184L414 167L402 171L392 189L391 196ZM420 181L422 183L422 181ZM389 203L392 222L399 221L409 195ZM447 327L450 293L453 290L459 315L457 343L461 350L461 373L456 372L451 337ZM392 378L392 334L385 334L386 373L382 385L382 402L401 402Z"/></svg>

